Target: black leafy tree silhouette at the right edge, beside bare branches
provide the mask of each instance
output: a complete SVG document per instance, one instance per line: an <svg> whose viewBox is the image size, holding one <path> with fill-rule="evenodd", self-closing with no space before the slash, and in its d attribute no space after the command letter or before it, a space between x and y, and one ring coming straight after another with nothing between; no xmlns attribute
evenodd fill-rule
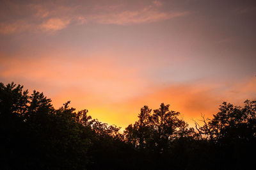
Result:
<svg viewBox="0 0 256 170"><path fill-rule="evenodd" d="M243 169L253 162L251 155L256 147L255 101L246 100L244 107L237 107L223 102L220 111L212 119L205 120L204 126L198 128L200 134L211 142L218 155L218 168Z"/></svg>

